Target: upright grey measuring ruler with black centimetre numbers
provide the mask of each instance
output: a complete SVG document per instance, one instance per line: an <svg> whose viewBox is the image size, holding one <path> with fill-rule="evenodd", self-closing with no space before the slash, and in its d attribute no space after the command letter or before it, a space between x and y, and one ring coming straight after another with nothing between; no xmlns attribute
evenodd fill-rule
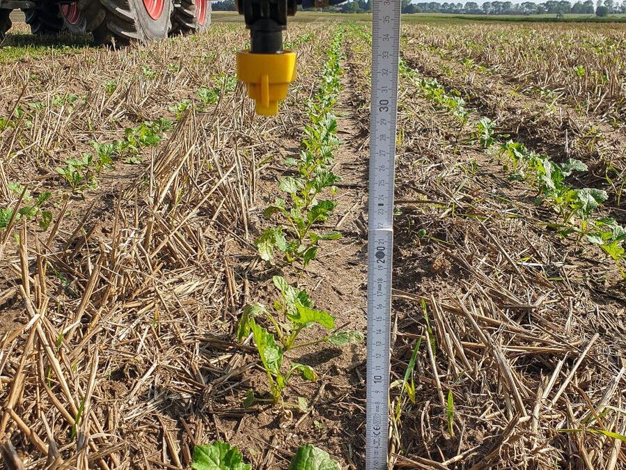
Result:
<svg viewBox="0 0 626 470"><path fill-rule="evenodd" d="M373 0L368 221L366 469L386 470L393 185L401 0Z"/></svg>

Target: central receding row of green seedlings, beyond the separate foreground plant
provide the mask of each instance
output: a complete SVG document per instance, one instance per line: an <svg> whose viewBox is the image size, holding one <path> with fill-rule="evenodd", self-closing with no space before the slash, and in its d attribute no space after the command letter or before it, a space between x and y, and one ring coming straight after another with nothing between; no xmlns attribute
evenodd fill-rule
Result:
<svg viewBox="0 0 626 470"><path fill-rule="evenodd" d="M331 42L318 91L308 102L311 123L304 128L299 158L285 160L286 164L296 167L297 176L279 180L279 189L286 196L276 198L263 212L267 219L279 221L255 241L263 260L274 260L277 250L288 263L300 260L306 267L317 256L320 242L341 238L338 232L319 233L315 227L327 221L336 207L335 201L320 196L324 191L334 195L335 183L340 179L331 170L334 152L339 146L337 120L331 110L341 90L342 39L343 31L339 31Z"/></svg>

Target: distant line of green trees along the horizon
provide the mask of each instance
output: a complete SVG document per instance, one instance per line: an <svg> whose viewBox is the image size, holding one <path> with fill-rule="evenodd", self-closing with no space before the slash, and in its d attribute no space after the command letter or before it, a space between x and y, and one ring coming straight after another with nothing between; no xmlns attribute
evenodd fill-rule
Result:
<svg viewBox="0 0 626 470"><path fill-rule="evenodd" d="M323 8L323 11L334 13L367 13L370 11L371 0L351 0L341 5ZM235 0L223 0L213 3L213 10L235 10ZM305 8L304 10L315 10ZM626 0L593 0L576 1L548 0L543 3L524 1L512 3L511 1L485 1L478 4L475 1L466 3L436 1L422 1L412 3L411 0L402 0L402 13L454 13L457 15L567 15L579 13L586 15L607 16L615 13L626 14Z"/></svg>

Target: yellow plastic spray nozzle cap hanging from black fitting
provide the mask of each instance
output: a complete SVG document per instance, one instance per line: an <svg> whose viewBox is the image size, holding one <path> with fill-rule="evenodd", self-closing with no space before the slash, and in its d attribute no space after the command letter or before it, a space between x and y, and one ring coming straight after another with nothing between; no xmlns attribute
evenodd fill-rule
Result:
<svg viewBox="0 0 626 470"><path fill-rule="evenodd" d="M289 84L296 78L296 54L290 51L276 54L237 52L237 79L248 85L248 96L255 101L256 113L274 116L279 101L287 97Z"/></svg>

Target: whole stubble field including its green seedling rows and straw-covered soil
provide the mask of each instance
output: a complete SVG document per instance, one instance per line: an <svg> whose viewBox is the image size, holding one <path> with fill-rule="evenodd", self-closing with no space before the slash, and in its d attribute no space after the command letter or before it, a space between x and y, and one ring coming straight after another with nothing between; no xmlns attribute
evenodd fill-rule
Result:
<svg viewBox="0 0 626 470"><path fill-rule="evenodd" d="M363 469L367 15L298 13L272 118L233 14L119 50L26 32L0 47L4 466ZM626 468L625 46L402 27L393 468Z"/></svg>

